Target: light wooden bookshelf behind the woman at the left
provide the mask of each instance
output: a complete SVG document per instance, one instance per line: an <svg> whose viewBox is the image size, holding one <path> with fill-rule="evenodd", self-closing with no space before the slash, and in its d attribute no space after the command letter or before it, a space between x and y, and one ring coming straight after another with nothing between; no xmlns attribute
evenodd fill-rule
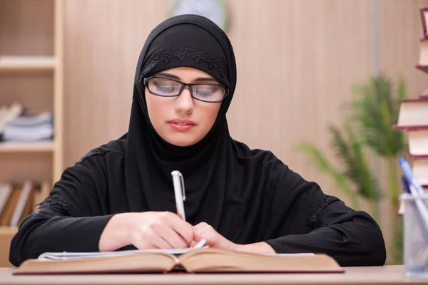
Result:
<svg viewBox="0 0 428 285"><path fill-rule="evenodd" d="M0 106L54 115L54 141L0 142L0 183L54 183L63 170L63 0L0 0ZM1 215L1 212L0 212ZM0 266L15 227L0 227Z"/></svg>

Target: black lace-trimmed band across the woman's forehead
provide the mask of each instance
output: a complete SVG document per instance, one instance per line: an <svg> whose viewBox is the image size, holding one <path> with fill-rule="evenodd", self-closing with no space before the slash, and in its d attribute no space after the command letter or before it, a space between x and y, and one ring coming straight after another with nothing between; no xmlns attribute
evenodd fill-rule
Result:
<svg viewBox="0 0 428 285"><path fill-rule="evenodd" d="M206 51L200 51L196 48L170 48L167 51L163 51L163 53L159 54L153 60L151 60L146 68L144 68L142 73L146 73L151 68L156 66L160 61L165 64L168 64L169 61L173 58L178 58L179 61L184 61L185 58L192 58L195 61L195 64L200 63L200 61L205 61L208 63L208 66L212 68L218 68L221 76L225 78L225 81L229 83L228 73L226 73L226 68L223 66L223 63L218 60L211 53L207 53Z"/></svg>

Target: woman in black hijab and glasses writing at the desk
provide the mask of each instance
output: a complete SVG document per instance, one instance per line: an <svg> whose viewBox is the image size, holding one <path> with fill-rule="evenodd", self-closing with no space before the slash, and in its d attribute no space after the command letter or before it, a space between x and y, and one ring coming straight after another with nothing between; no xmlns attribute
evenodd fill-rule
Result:
<svg viewBox="0 0 428 285"><path fill-rule="evenodd" d="M230 138L235 56L213 22L186 15L157 26L134 82L128 133L64 170L39 212L21 222L12 264L43 252L183 248L201 238L240 252L384 264L384 239L368 214L325 195L271 152ZM188 222L174 214L173 170L183 173Z"/></svg>

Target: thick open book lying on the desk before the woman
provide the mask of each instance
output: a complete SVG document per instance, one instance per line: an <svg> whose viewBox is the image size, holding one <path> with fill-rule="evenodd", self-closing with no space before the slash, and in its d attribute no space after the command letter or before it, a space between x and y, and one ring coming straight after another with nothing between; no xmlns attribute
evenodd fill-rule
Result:
<svg viewBox="0 0 428 285"><path fill-rule="evenodd" d="M221 249L42 254L14 274L188 272L343 272L325 254L247 254Z"/></svg>

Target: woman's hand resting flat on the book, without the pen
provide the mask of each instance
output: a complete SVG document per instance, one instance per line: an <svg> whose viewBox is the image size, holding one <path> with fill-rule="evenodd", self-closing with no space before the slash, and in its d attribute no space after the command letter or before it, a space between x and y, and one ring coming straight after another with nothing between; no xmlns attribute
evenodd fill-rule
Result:
<svg viewBox="0 0 428 285"><path fill-rule="evenodd" d="M192 242L193 247L200 239L205 239L207 245L217 249L226 249L234 252L248 252L253 254L275 254L275 250L265 242L254 244L235 244L219 234L213 227L205 222L201 222L194 227L196 235ZM200 237L198 237L200 235Z"/></svg>

